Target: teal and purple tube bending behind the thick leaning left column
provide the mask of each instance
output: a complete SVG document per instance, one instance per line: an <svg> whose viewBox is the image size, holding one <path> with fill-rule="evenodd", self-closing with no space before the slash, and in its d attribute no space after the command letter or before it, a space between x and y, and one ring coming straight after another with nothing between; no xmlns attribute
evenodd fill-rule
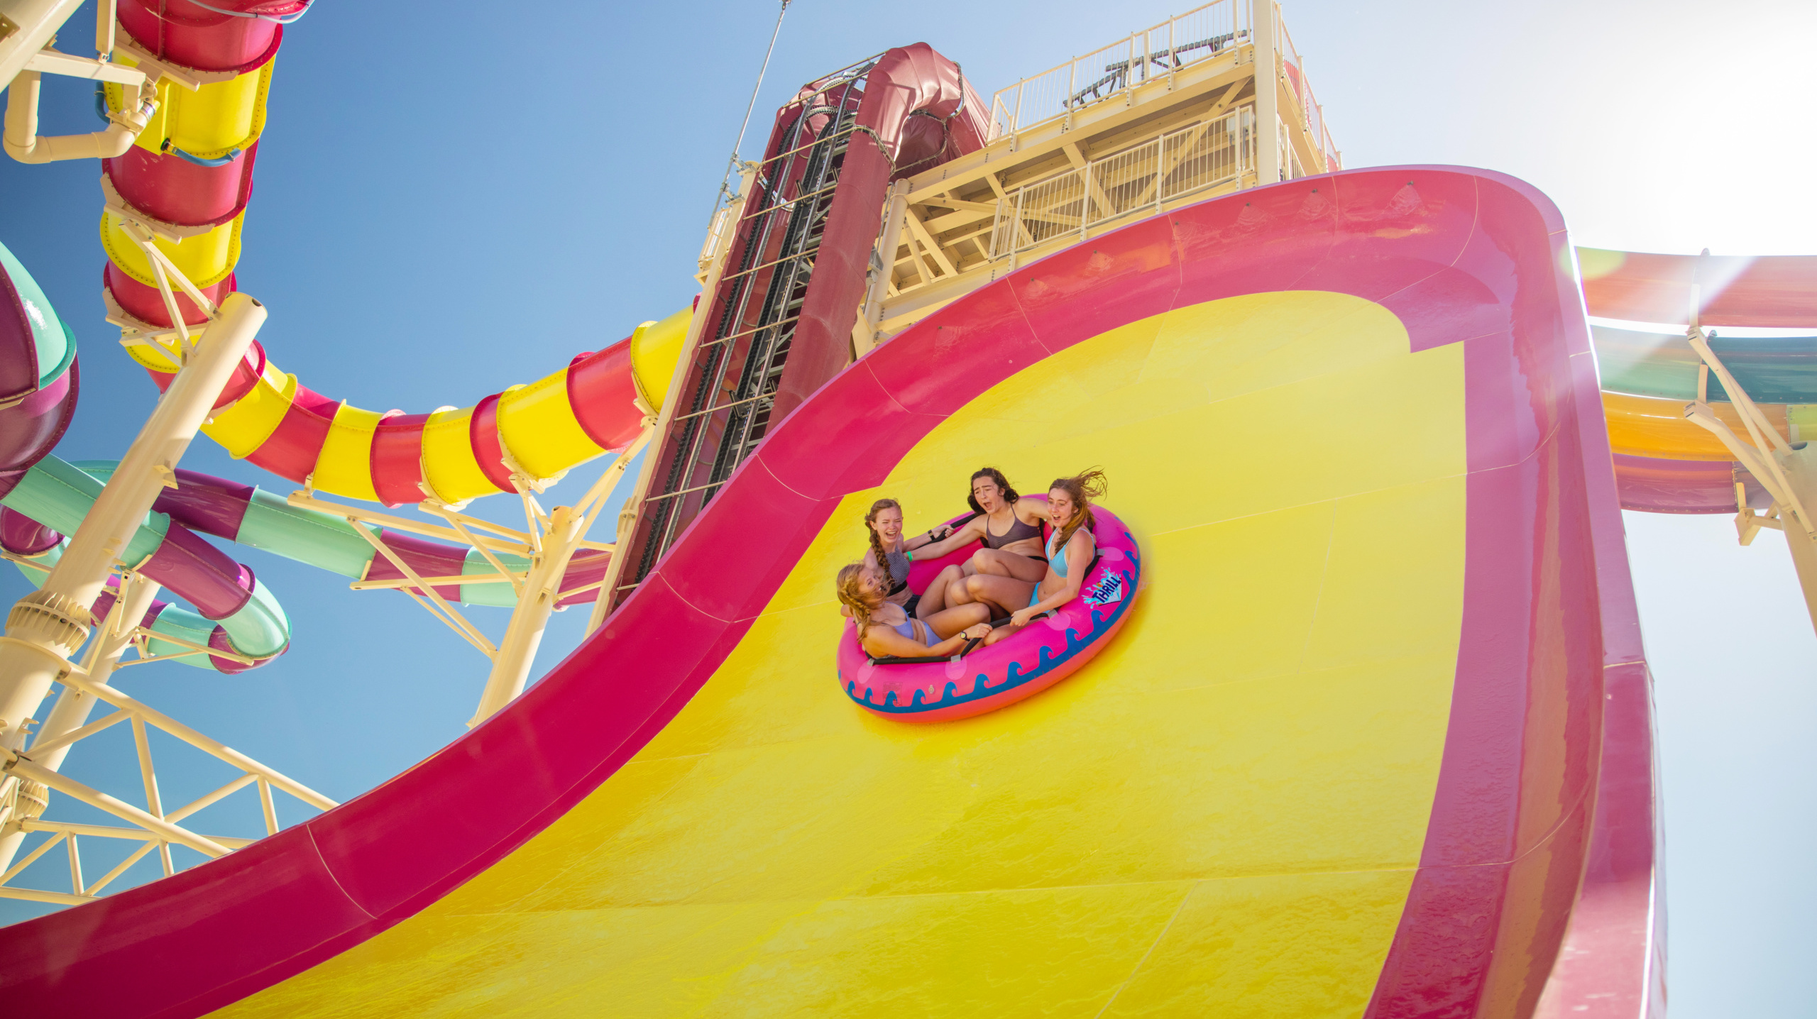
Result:
<svg viewBox="0 0 1817 1019"><path fill-rule="evenodd" d="M7 552L44 556L44 565L53 565L62 536L73 534L82 525L82 518L102 494L102 485L100 478L76 465L45 456L0 500L7 510L25 518L25 523L5 519L0 525L0 543ZM245 665L209 656L209 665L218 672L243 672L271 661L289 647L291 623L271 590L253 576L251 569L233 561L191 529L173 521L169 514L153 510L120 552L120 559L133 563L138 572L167 587L194 605L204 619L213 621L196 625L187 614L169 614L171 618L164 619L165 614L160 612L165 627L153 625L153 630L254 659L253 665ZM169 645L164 650L178 648Z"/></svg>

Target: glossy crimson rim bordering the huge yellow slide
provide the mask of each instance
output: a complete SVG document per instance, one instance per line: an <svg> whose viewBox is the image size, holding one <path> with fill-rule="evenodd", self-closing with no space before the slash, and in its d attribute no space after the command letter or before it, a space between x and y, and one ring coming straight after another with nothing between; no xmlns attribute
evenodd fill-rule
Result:
<svg viewBox="0 0 1817 1019"><path fill-rule="evenodd" d="M503 712L303 825L11 928L0 986L22 1014L200 1015L376 935L521 846L649 743L839 500L883 483L948 414L1108 329L1319 289L1386 307L1415 351L1465 347L1450 734L1368 1015L1657 1012L1648 678L1568 243L1557 209L1514 178L1388 167L1210 200L1023 267L818 391L620 614ZM850 441L856 418L863 443Z"/></svg>

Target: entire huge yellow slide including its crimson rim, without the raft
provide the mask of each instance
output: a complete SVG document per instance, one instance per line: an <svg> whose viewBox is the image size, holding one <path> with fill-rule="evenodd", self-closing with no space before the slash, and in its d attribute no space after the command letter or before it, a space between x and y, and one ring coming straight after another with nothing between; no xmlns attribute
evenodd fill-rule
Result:
<svg viewBox="0 0 1817 1019"><path fill-rule="evenodd" d="M1653 1012L1648 676L1566 243L1515 180L1399 167L1023 267L814 392L509 708L9 928L0 984L120 1017ZM981 461L1103 463L1148 587L1052 690L874 717L827 681L830 576L878 494L925 527Z"/></svg>

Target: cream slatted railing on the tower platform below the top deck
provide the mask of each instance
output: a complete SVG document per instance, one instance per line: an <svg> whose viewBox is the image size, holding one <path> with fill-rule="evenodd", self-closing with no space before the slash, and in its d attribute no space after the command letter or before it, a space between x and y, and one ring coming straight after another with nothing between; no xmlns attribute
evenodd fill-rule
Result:
<svg viewBox="0 0 1817 1019"><path fill-rule="evenodd" d="M1245 105L1010 191L998 202L990 258L1159 213L1165 202L1234 183L1254 169L1256 107Z"/></svg>

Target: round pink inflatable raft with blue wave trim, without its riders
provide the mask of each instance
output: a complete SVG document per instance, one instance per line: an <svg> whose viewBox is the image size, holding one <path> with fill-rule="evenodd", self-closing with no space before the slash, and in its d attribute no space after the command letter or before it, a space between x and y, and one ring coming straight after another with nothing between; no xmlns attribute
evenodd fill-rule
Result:
<svg viewBox="0 0 1817 1019"><path fill-rule="evenodd" d="M1079 596L1023 632L970 654L923 661L874 661L847 621L839 638L839 687L859 707L898 721L950 721L1032 697L1092 659L1128 618L1141 581L1141 549L1116 514L1097 518L1097 559ZM1045 529L1043 529L1045 530ZM908 587L923 590L943 567L963 563L979 545L916 563Z"/></svg>

